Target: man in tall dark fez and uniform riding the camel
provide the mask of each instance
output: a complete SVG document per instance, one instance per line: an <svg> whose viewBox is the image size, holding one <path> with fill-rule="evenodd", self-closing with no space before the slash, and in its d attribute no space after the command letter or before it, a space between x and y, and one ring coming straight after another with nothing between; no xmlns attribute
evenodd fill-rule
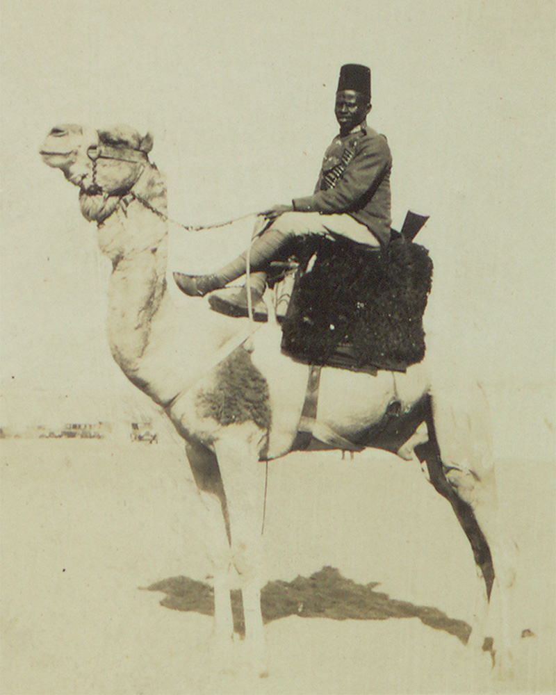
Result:
<svg viewBox="0 0 556 695"><path fill-rule="evenodd" d="M252 306L261 320L265 320L261 298L268 265L284 256L295 238L337 234L372 247L389 243L392 156L386 137L366 124L370 109L369 68L343 65L334 108L340 132L325 152L315 193L261 213L269 224L250 249ZM246 266L247 251L211 275L175 272L174 280L187 295L213 293L208 301L215 311L247 316L245 286L214 292L245 275Z"/></svg>

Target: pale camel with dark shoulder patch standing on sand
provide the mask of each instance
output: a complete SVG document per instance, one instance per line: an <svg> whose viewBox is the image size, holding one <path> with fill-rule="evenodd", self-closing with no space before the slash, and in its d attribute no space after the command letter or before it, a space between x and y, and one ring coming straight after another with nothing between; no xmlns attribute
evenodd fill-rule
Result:
<svg viewBox="0 0 556 695"><path fill-rule="evenodd" d="M100 250L112 263L113 358L185 441L210 530L217 653L222 659L230 653L230 589L239 581L244 648L263 676L264 461L295 448L311 368L281 354L276 322L252 332L247 318L222 316L206 300L170 293L166 188L149 160L152 145L152 136L141 137L129 126L94 130L70 124L52 129L40 154L79 187L81 212L97 222ZM471 543L482 588L470 641L479 647L498 582L502 619L494 640L500 663L509 655L514 562L498 520L488 425L479 400L473 411L458 414L427 374L424 363L405 373L375 375L322 368L313 435L326 440L332 432L329 448L357 442L422 464ZM381 429L392 406L395 427Z"/></svg>

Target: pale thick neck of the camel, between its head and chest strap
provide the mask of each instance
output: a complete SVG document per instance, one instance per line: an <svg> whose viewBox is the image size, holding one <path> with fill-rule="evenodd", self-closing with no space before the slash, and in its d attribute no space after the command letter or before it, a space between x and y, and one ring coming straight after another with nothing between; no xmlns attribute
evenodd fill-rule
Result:
<svg viewBox="0 0 556 695"><path fill-rule="evenodd" d="M165 205L158 201L156 209ZM137 199L99 225L99 244L113 263L113 357L133 384L165 406L200 376L207 355L234 336L240 323L208 311L198 297L180 295L178 309L166 283L167 222Z"/></svg>

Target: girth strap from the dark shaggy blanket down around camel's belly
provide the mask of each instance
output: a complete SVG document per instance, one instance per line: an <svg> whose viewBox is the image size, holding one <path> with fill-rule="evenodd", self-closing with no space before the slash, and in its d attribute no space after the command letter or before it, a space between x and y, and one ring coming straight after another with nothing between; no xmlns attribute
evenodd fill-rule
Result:
<svg viewBox="0 0 556 695"><path fill-rule="evenodd" d="M316 419L318 406L318 387L320 386L319 365L309 366L309 379L307 380L307 390L305 402L301 411L300 424L297 434L293 441L293 451L311 451L315 449L341 449L343 451L363 451L365 448L355 444L349 439L345 439L328 425L320 423Z"/></svg>

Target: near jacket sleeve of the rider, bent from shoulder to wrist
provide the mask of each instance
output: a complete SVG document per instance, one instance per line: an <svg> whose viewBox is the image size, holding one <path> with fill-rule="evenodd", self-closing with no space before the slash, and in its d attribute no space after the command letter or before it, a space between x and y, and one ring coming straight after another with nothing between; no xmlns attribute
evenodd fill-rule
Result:
<svg viewBox="0 0 556 695"><path fill-rule="evenodd" d="M361 197L373 195L391 163L390 148L384 136L363 140L361 149L334 188L293 199L293 209L325 214L350 211Z"/></svg>

